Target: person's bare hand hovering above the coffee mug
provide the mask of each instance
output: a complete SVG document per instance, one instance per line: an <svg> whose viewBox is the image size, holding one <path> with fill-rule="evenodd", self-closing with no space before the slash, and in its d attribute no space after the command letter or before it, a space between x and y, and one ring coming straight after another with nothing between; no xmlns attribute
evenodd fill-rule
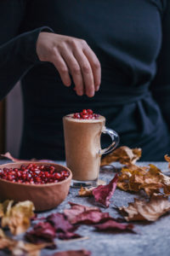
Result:
<svg viewBox="0 0 170 256"><path fill-rule="evenodd" d="M54 64L65 86L71 85L71 74L78 96L86 94L92 97L99 90L99 60L86 41L41 32L37 38L37 55L40 61Z"/></svg>

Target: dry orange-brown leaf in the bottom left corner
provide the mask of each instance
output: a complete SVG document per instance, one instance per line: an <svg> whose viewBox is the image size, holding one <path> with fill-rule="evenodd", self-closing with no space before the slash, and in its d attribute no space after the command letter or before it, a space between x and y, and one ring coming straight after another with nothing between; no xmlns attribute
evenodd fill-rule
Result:
<svg viewBox="0 0 170 256"><path fill-rule="evenodd" d="M14 256L39 256L40 250L44 247L48 247L49 243L42 243L39 245L34 245L31 243L26 243L24 241L16 241L8 236L5 236L2 229L0 229L0 249L8 249Z"/></svg>

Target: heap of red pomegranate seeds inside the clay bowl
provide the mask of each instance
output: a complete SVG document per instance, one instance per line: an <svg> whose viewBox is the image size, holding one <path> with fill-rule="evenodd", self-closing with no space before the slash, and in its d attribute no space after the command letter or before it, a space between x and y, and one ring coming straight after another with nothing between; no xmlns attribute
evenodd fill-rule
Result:
<svg viewBox="0 0 170 256"><path fill-rule="evenodd" d="M46 184L59 183L69 177L69 172L57 172L54 166L22 165L20 168L0 169L0 178L13 183Z"/></svg>

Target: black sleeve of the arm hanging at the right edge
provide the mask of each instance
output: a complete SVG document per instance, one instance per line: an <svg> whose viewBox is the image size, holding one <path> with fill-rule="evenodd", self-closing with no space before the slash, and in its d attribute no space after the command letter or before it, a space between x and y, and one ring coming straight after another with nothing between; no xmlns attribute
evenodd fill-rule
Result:
<svg viewBox="0 0 170 256"><path fill-rule="evenodd" d="M170 1L162 20L162 45L151 90L170 130Z"/></svg>

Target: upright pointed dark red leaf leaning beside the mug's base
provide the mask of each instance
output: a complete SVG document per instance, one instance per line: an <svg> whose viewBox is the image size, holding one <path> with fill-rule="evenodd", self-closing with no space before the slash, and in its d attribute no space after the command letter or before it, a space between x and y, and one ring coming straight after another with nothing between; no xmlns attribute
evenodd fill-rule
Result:
<svg viewBox="0 0 170 256"><path fill-rule="evenodd" d="M93 190L93 195L95 201L101 203L105 207L109 207L111 196L114 194L116 189L118 177L117 174L107 185L99 185L96 189Z"/></svg>

